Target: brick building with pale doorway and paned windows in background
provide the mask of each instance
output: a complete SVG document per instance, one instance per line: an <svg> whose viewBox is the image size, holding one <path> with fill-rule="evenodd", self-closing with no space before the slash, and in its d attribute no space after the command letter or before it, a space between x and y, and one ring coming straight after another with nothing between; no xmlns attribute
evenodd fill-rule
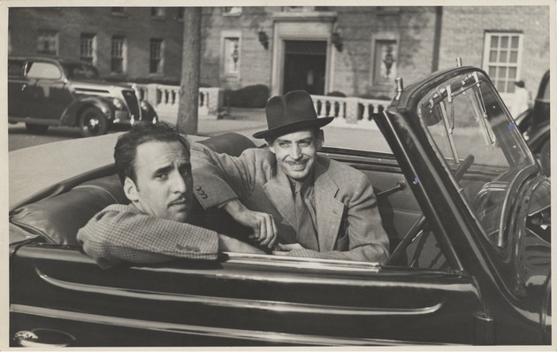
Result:
<svg viewBox="0 0 557 352"><path fill-rule="evenodd" d="M392 96L427 73L477 65L505 98L534 92L550 60L550 9L538 6L202 8L202 85L263 84L271 94ZM177 83L179 7L11 8L9 50L81 57L105 77Z"/></svg>

